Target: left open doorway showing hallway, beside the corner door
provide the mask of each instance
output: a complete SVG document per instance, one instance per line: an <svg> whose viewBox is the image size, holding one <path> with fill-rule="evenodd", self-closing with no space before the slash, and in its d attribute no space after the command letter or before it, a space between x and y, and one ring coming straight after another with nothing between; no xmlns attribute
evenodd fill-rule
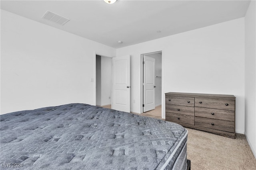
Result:
<svg viewBox="0 0 256 170"><path fill-rule="evenodd" d="M96 106L111 109L112 58L96 55Z"/></svg>

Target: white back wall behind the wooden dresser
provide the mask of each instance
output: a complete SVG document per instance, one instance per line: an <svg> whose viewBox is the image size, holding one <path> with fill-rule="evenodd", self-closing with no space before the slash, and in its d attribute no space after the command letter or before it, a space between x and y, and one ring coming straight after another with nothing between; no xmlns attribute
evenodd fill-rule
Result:
<svg viewBox="0 0 256 170"><path fill-rule="evenodd" d="M244 18L117 49L131 55L132 112L140 111L140 55L161 50L164 92L236 96L236 132L244 133Z"/></svg>

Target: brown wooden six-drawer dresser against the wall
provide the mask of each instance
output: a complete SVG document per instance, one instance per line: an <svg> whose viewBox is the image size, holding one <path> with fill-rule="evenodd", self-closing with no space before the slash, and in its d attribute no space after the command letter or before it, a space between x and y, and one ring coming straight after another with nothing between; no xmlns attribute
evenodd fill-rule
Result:
<svg viewBox="0 0 256 170"><path fill-rule="evenodd" d="M166 121L235 139L233 95L169 92L165 94Z"/></svg>

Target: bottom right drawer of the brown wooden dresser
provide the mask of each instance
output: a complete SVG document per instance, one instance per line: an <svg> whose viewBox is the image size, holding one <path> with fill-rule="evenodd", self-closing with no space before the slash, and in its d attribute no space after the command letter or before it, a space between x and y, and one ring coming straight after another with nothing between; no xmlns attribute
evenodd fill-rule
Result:
<svg viewBox="0 0 256 170"><path fill-rule="evenodd" d="M235 133L235 123L233 121L195 117L195 126Z"/></svg>

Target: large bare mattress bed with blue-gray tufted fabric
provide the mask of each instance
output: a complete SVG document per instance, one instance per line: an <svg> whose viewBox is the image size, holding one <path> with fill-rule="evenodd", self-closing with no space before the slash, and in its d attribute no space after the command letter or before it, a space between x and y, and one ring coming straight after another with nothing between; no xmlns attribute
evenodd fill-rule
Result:
<svg viewBox="0 0 256 170"><path fill-rule="evenodd" d="M0 115L1 169L186 170L188 131L88 104Z"/></svg>

